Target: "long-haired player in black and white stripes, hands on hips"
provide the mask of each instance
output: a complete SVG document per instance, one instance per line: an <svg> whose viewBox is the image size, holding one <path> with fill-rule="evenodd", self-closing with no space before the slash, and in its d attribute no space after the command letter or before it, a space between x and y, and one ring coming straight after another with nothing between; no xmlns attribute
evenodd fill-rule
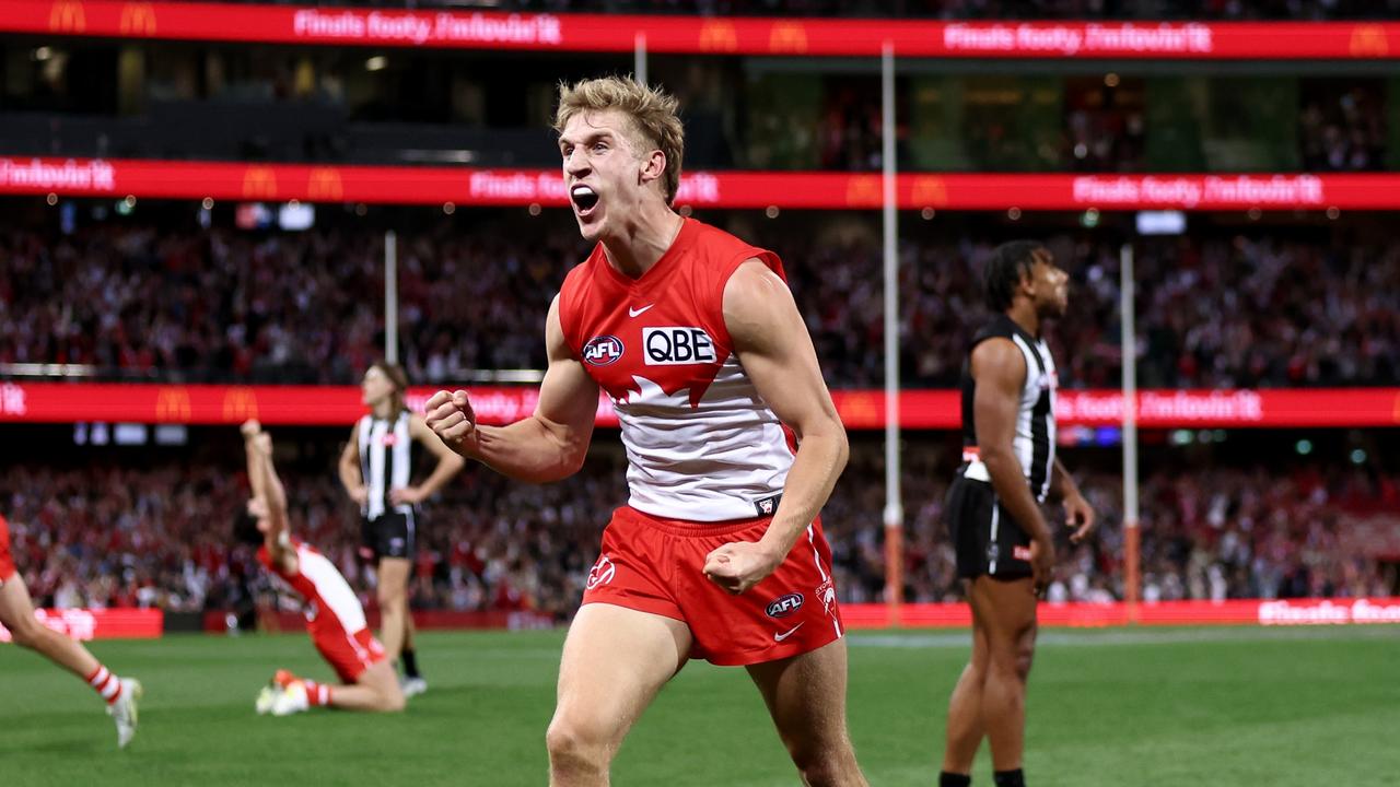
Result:
<svg viewBox="0 0 1400 787"><path fill-rule="evenodd" d="M361 394L370 413L356 423L340 454L340 483L360 506L360 552L378 562L379 640L391 662L403 664L403 690L413 696L427 688L419 674L409 615L417 504L456 475L465 461L438 440L421 416L409 412L403 401L407 388L409 378L398 364L379 361L364 372ZM437 458L433 473L417 486L414 443Z"/></svg>

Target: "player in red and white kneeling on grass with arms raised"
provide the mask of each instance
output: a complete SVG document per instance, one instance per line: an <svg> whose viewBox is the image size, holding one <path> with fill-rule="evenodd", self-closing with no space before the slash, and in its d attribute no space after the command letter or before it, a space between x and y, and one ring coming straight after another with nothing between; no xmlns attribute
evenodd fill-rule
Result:
<svg viewBox="0 0 1400 787"><path fill-rule="evenodd" d="M403 692L384 647L365 625L354 591L330 560L287 532L287 494L273 469L272 437L258 422L246 422L242 433L253 497L248 501L248 515L238 522L238 539L262 543L258 562L307 602L311 641L343 683L318 683L279 669L258 696L258 713L287 716L314 706L403 710Z"/></svg>

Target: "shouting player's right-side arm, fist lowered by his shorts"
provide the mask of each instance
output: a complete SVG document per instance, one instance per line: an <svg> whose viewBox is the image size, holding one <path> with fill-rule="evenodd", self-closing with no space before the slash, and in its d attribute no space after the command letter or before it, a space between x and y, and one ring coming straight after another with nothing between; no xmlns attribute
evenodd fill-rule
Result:
<svg viewBox="0 0 1400 787"><path fill-rule="evenodd" d="M706 563L711 580L743 592L767 577L816 520L846 468L850 445L806 323L783 279L756 259L741 265L724 290L724 322L743 370L798 440L783 500L763 539L721 546Z"/></svg>

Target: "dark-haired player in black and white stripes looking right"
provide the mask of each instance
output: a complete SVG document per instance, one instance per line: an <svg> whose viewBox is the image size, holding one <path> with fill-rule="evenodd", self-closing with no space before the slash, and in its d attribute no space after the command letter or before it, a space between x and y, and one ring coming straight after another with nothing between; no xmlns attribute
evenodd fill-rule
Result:
<svg viewBox="0 0 1400 787"><path fill-rule="evenodd" d="M1000 314L973 337L963 365L963 465L945 506L972 605L972 661L948 703L939 787L972 783L983 737L997 787L1025 784L1036 598L1054 567L1040 503L1050 493L1064 503L1075 543L1093 528L1093 508L1054 455L1058 377L1040 336L1044 319L1064 315L1068 279L1040 244L1001 245L987 262L987 305Z"/></svg>

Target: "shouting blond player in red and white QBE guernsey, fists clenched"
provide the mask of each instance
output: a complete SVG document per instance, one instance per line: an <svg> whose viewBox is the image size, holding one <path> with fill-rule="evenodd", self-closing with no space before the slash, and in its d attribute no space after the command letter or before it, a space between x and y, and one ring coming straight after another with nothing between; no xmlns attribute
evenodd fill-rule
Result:
<svg viewBox="0 0 1400 787"><path fill-rule="evenodd" d="M444 443L528 482L580 469L599 388L622 422L631 496L564 643L550 783L608 784L633 721L699 657L748 668L804 783L864 786L818 521L846 430L783 263L672 210L673 98L623 78L561 87L556 130L574 216L598 245L550 305L539 406L493 429L463 391L428 402Z"/></svg>

